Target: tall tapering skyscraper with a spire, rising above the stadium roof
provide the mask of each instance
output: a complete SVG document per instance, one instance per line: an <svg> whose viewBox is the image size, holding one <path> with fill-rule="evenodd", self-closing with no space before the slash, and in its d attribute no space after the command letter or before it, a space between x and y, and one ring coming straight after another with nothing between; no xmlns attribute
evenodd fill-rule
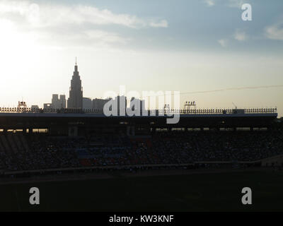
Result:
<svg viewBox="0 0 283 226"><path fill-rule="evenodd" d="M75 71L71 78L67 107L80 109L83 107L83 88L81 87L81 78L79 76L77 64L75 64Z"/></svg>

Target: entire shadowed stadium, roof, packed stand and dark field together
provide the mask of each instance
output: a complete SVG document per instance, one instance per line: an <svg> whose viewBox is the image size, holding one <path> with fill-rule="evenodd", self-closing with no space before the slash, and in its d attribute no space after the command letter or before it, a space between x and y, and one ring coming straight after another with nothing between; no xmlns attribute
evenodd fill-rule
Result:
<svg viewBox="0 0 283 226"><path fill-rule="evenodd" d="M231 184L240 189L243 182L260 188L260 201L281 195L276 109L180 110L178 124L166 124L166 114L9 111L0 113L2 210L216 210L214 192L221 187L219 196L231 199L231 207L220 201L218 210L243 210L240 190L229 194ZM24 201L31 184L43 190L38 208ZM266 210L266 203L250 210Z"/></svg>

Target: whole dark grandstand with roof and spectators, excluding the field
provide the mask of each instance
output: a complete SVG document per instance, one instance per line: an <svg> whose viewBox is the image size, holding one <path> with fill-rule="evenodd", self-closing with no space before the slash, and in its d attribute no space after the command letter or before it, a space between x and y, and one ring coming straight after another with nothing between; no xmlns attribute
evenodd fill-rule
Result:
<svg viewBox="0 0 283 226"><path fill-rule="evenodd" d="M1 109L2 111L3 109ZM282 121L276 109L105 117L100 112L0 112L0 172L282 166Z"/></svg>

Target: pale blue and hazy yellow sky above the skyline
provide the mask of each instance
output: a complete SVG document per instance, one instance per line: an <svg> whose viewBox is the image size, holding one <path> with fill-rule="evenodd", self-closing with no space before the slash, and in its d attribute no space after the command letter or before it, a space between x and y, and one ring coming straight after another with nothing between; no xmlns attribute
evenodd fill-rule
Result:
<svg viewBox="0 0 283 226"><path fill-rule="evenodd" d="M282 0L0 0L0 30L0 107L69 97L77 57L84 97L177 90L283 117Z"/></svg>

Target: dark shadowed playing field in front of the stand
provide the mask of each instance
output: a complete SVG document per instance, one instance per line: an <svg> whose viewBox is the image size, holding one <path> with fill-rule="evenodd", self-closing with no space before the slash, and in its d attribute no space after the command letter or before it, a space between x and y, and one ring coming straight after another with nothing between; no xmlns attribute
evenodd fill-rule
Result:
<svg viewBox="0 0 283 226"><path fill-rule="evenodd" d="M254 211L283 210L283 172L227 172L115 177L0 185L0 210L11 211ZM40 205L29 189L40 189ZM241 203L241 189L253 204Z"/></svg>

